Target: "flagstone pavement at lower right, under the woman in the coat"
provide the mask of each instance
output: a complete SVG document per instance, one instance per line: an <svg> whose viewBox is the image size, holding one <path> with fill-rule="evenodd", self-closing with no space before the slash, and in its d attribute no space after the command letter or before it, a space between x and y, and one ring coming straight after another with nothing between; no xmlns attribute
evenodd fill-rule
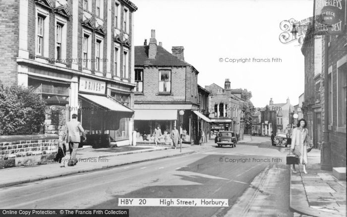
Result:
<svg viewBox="0 0 347 217"><path fill-rule="evenodd" d="M320 169L320 150L308 153L306 171L290 175L290 208L294 217L346 217L346 181ZM297 166L296 166L297 170Z"/></svg>

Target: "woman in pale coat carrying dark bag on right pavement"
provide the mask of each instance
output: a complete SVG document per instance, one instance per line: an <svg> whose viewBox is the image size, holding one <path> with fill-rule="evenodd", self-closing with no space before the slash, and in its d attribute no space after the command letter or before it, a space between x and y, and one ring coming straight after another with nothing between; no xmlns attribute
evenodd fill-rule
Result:
<svg viewBox="0 0 347 217"><path fill-rule="evenodd" d="M297 123L297 127L293 129L293 132L291 134L290 146L291 153L299 157L299 163L303 165L303 172L305 174L307 174L307 144L309 144L309 146L313 146L312 140L308 135L308 129L306 128L306 126L306 120L301 118ZM296 173L295 164L293 164L293 168L291 169L291 171L293 173Z"/></svg>

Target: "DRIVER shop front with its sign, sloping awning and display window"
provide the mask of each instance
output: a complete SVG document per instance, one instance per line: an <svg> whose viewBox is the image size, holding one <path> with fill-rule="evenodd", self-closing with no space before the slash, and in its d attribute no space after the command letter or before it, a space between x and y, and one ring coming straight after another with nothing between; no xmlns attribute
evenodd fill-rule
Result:
<svg viewBox="0 0 347 217"><path fill-rule="evenodd" d="M78 120L86 132L84 144L93 148L118 146L131 136L129 122L134 111L106 93L105 81L80 77Z"/></svg>

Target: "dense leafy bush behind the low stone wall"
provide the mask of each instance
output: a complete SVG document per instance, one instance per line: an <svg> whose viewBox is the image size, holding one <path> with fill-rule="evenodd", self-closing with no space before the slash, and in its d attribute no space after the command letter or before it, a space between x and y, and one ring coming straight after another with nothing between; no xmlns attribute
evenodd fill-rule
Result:
<svg viewBox="0 0 347 217"><path fill-rule="evenodd" d="M31 87L0 84L0 135L39 133L45 121L45 105Z"/></svg>

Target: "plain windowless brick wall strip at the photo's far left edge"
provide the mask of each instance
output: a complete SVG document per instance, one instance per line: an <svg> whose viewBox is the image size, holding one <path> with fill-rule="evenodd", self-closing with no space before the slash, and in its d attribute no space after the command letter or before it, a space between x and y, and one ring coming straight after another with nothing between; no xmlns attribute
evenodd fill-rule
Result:
<svg viewBox="0 0 347 217"><path fill-rule="evenodd" d="M0 7L0 78L4 85L17 82L19 0L1 1Z"/></svg>

